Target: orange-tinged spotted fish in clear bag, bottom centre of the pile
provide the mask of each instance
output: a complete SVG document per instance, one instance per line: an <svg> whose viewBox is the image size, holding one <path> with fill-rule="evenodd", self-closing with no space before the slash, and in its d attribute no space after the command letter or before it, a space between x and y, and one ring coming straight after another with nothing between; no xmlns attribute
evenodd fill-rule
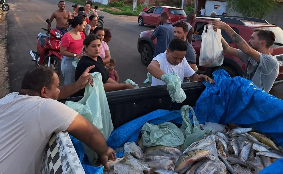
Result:
<svg viewBox="0 0 283 174"><path fill-rule="evenodd" d="M212 152L203 149L191 150L184 153L177 161L175 165L175 172L183 174L185 173L194 162L200 161L203 158L209 158L210 160L217 160Z"/></svg>

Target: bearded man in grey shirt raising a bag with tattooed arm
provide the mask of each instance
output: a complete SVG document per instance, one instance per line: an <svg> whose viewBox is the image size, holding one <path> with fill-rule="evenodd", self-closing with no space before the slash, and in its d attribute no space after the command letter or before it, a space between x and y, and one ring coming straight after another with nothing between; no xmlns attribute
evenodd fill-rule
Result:
<svg viewBox="0 0 283 174"><path fill-rule="evenodd" d="M269 93L279 74L279 61L269 52L275 41L274 32L255 29L248 44L226 23L220 20L209 23L212 23L214 29L224 29L238 46L239 49L232 48L222 38L223 51L247 63L243 77Z"/></svg>

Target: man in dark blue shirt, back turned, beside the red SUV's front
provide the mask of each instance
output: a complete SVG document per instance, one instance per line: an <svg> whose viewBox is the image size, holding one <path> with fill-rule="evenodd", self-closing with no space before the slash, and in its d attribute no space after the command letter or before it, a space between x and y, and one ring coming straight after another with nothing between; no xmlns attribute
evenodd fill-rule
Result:
<svg viewBox="0 0 283 174"><path fill-rule="evenodd" d="M157 37L157 44L154 50L153 58L160 53L165 52L167 45L174 39L174 28L169 22L169 15L163 12L160 15L160 21L157 23L150 39Z"/></svg>

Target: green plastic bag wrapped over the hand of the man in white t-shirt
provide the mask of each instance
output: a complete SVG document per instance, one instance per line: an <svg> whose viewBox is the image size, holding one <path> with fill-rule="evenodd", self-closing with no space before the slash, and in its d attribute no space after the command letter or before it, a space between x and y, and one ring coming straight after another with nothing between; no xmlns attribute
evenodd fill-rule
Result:
<svg viewBox="0 0 283 174"><path fill-rule="evenodd" d="M167 91L169 92L172 101L182 103L187 98L184 90L181 88L182 80L177 74L163 74L161 80L167 84Z"/></svg>

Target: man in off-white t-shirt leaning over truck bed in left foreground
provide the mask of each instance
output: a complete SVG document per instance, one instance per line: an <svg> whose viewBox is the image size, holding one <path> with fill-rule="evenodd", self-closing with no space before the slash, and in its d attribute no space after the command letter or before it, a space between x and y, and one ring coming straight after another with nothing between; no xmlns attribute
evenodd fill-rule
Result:
<svg viewBox="0 0 283 174"><path fill-rule="evenodd" d="M0 99L0 173L40 173L45 147L53 132L67 130L96 151L107 170L115 159L101 132L87 119L57 99L65 99L91 84L88 67L77 82L59 87L54 70L39 66L29 70L19 92ZM61 92L60 92L61 91Z"/></svg>

